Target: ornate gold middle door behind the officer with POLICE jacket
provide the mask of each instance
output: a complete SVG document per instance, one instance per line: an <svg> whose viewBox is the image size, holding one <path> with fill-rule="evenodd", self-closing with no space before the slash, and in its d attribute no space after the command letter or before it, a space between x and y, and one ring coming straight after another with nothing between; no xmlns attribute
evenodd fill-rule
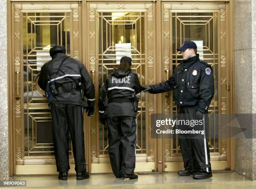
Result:
<svg viewBox="0 0 256 189"><path fill-rule="evenodd" d="M156 83L153 3L89 3L87 13L87 67L90 67L95 83L96 96L105 78L117 67L118 55L132 56L132 70L138 73L141 85ZM150 134L151 113L156 113L155 96L141 93L137 113L135 171L155 169L155 140ZM98 119L96 113L88 124L90 172L112 172L107 127L101 125Z"/></svg>

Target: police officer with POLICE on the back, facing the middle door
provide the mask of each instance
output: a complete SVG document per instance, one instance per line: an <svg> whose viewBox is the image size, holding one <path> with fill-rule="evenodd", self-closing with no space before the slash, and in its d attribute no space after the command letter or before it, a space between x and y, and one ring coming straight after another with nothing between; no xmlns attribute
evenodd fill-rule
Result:
<svg viewBox="0 0 256 189"><path fill-rule="evenodd" d="M100 122L108 125L109 156L117 178L137 179L136 158L136 94L142 88L138 75L131 71L132 59L124 56L118 69L110 74L100 89Z"/></svg>

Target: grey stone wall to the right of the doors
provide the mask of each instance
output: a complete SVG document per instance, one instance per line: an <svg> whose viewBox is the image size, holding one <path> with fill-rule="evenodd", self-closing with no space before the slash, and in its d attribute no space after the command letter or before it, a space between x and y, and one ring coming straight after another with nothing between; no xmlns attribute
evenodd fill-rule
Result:
<svg viewBox="0 0 256 189"><path fill-rule="evenodd" d="M256 0L235 0L234 13L235 113L256 113ZM235 169L256 180L256 139L236 140Z"/></svg>

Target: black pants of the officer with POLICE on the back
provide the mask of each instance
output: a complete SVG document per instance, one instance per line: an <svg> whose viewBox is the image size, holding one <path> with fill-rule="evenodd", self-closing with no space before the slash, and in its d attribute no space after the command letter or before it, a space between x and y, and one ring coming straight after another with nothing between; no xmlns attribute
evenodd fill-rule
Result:
<svg viewBox="0 0 256 189"><path fill-rule="evenodd" d="M117 116L107 118L111 167L115 176L133 174L136 159L136 118Z"/></svg>

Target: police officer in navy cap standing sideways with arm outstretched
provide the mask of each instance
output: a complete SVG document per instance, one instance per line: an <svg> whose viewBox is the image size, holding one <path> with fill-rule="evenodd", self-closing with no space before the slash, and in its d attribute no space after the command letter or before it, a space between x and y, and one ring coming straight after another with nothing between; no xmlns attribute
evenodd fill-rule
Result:
<svg viewBox="0 0 256 189"><path fill-rule="evenodd" d="M145 86L144 91L150 93L163 93L174 90L175 104L178 113L184 113L187 119L205 120L207 127L207 109L214 95L214 78L209 64L199 59L197 45L193 41L186 41L181 51L182 62L174 70L168 81ZM191 117L192 116L192 117ZM205 129L205 128L204 128ZM205 129L207 131L207 129ZM181 176L192 175L194 179L206 179L212 176L210 165L210 151L205 135L202 137L182 137L179 139L184 171Z"/></svg>

